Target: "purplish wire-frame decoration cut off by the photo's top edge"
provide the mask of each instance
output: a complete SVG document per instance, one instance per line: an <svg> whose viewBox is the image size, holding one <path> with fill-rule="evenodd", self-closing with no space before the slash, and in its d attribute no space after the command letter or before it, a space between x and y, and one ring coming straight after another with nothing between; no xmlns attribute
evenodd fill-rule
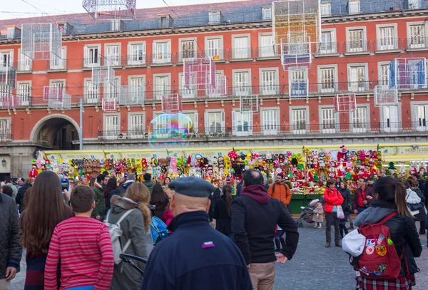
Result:
<svg viewBox="0 0 428 290"><path fill-rule="evenodd" d="M83 0L82 6L93 19L136 18L136 0Z"/></svg>

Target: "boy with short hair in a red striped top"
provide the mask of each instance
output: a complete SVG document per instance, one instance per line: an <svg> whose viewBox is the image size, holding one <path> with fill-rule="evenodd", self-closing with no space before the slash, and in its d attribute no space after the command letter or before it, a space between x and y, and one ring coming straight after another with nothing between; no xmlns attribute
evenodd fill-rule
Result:
<svg viewBox="0 0 428 290"><path fill-rule="evenodd" d="M59 223L52 235L45 290L107 290L113 276L113 247L108 227L91 218L95 207L91 187L74 187L70 207L76 216Z"/></svg>

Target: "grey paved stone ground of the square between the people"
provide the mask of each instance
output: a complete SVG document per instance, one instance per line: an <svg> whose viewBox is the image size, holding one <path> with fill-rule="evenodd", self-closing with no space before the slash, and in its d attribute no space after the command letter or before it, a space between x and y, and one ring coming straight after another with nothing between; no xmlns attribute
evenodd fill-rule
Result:
<svg viewBox="0 0 428 290"><path fill-rule="evenodd" d="M338 247L324 247L325 230L313 229L305 224L299 231L300 242L295 257L284 265L276 266L275 290L355 289L355 271L347 261L347 254ZM422 257L416 260L421 271L416 276L417 286L413 290L428 289L427 237L422 236L421 242L424 250ZM11 290L23 290L24 280L25 259L21 262L21 272L12 282Z"/></svg>

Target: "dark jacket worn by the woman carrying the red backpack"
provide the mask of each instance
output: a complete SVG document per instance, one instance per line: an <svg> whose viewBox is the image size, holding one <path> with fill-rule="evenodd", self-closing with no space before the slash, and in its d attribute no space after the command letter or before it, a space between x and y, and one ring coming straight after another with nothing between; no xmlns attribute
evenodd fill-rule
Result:
<svg viewBox="0 0 428 290"><path fill-rule="evenodd" d="M387 217L388 214L396 211L397 206L394 203L374 200L371 207L358 214L354 224L357 227L361 227L365 223L376 224L384 217ZM416 265L416 261L414 261L414 257L420 257L422 245L412 217L396 215L387 220L384 225L389 227L391 239L394 242L398 257L404 254L404 259L402 259L402 274L418 272L419 268ZM407 273L406 261L409 265L409 273Z"/></svg>

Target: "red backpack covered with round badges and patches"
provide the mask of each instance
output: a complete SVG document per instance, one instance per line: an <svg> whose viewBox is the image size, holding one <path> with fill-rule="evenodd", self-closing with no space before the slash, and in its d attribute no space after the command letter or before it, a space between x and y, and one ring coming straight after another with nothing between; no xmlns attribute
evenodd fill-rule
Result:
<svg viewBox="0 0 428 290"><path fill-rule="evenodd" d="M369 279L397 279L401 272L401 259L398 257L391 232L384 225L387 220L396 216L392 212L377 224L362 224L360 234L365 236L365 247L357 262L361 276Z"/></svg>

